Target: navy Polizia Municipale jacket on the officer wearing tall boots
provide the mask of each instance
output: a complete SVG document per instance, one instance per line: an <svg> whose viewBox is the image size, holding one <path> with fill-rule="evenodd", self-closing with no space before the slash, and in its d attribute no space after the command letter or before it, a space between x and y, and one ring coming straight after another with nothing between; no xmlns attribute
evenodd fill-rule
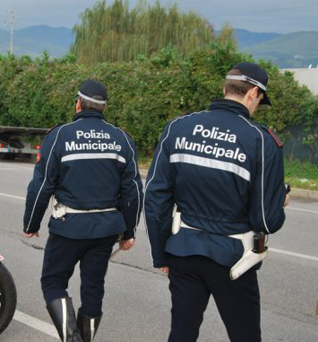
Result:
<svg viewBox="0 0 318 342"><path fill-rule="evenodd" d="M73 122L45 137L28 187L24 232L38 232L49 199L74 209L116 211L51 216L49 231L71 239L95 239L125 232L135 235L142 207L142 181L133 141L125 131L84 110Z"/></svg>

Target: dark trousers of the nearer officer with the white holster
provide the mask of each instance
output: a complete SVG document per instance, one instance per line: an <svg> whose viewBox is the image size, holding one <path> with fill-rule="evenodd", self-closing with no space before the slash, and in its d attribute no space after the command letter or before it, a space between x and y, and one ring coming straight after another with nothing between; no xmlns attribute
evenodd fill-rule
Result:
<svg viewBox="0 0 318 342"><path fill-rule="evenodd" d="M260 293L256 271L236 280L229 268L202 256L169 255L172 321L168 342L194 342L199 336L210 296L232 342L260 342Z"/></svg>

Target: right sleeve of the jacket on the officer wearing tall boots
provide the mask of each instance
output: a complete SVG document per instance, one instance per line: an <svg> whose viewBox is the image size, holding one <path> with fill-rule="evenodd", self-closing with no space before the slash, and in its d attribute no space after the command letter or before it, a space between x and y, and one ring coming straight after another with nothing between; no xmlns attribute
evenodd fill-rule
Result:
<svg viewBox="0 0 318 342"><path fill-rule="evenodd" d="M129 145L129 158L121 178L120 208L127 230L124 240L135 238L136 228L142 212L142 179L138 170L137 153L132 139L125 134Z"/></svg>

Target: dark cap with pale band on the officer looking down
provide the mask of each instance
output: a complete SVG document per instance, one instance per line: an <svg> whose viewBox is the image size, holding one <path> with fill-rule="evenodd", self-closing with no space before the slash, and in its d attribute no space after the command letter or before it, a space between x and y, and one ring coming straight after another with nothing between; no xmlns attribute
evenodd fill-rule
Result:
<svg viewBox="0 0 318 342"><path fill-rule="evenodd" d="M269 77L261 66L255 63L243 62L234 66L232 69L238 69L242 75L227 75L227 80L245 81L256 85L262 89L264 95L260 104L268 104L271 106L271 101L266 93Z"/></svg>

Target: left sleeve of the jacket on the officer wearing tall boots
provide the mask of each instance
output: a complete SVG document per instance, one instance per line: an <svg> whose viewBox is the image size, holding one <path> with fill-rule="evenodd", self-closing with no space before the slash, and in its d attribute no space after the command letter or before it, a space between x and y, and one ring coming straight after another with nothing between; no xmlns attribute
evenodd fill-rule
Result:
<svg viewBox="0 0 318 342"><path fill-rule="evenodd" d="M60 169L60 159L56 154L59 128L50 132L41 145L40 160L34 168L33 178L28 186L23 217L24 232L39 231L49 199L55 192Z"/></svg>

